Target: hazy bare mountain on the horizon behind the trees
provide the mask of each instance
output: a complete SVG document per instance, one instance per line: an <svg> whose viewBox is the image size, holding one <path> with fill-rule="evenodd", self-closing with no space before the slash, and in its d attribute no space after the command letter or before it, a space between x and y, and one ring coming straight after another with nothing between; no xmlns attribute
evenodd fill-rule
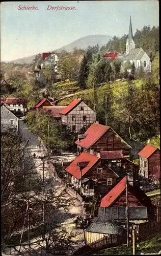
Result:
<svg viewBox="0 0 161 256"><path fill-rule="evenodd" d="M110 39L112 39L112 36L110 35L88 35L71 42L71 44L68 44L66 46L63 46L53 51L55 51L56 53L59 53L63 50L67 52L72 52L75 47L78 49L86 50L88 46L96 46L97 44L101 47L103 45L106 45ZM10 62L20 63L20 64L24 64L24 63L30 64L34 60L35 56L36 54L32 56L27 56L24 58L12 60Z"/></svg>

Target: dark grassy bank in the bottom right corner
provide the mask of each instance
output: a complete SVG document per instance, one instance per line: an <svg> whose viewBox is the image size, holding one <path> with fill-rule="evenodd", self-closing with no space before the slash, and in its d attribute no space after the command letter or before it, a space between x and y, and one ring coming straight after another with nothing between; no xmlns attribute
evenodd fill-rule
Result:
<svg viewBox="0 0 161 256"><path fill-rule="evenodd" d="M137 244L136 254L143 253L158 253L161 249L161 233L153 234L146 239L144 242L140 242ZM127 248L126 245L122 245L119 247L108 248L100 250L93 255L129 255L132 254L132 245Z"/></svg>

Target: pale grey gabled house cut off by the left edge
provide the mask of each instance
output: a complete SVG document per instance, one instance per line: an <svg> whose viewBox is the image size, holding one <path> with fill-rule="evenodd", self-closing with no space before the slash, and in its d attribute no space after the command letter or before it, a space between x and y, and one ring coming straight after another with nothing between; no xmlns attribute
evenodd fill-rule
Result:
<svg viewBox="0 0 161 256"><path fill-rule="evenodd" d="M1 131L4 132L11 129L16 129L18 131L18 117L16 117L6 105L1 105Z"/></svg>

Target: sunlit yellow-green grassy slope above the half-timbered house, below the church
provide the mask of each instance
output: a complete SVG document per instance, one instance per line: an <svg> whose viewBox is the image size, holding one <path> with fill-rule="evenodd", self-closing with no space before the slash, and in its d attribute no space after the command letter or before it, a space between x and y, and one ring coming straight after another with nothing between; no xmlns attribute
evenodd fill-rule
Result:
<svg viewBox="0 0 161 256"><path fill-rule="evenodd" d="M142 82L143 82L142 80L134 81L137 88L140 88ZM108 91L109 86L113 90L114 97L118 98L120 96L120 94L122 94L123 90L126 89L127 82L123 81L123 82L116 82L116 83L111 83L111 84L104 84L103 86L101 86L97 89L97 94L101 93L101 91ZM91 102L91 101L93 101L93 89L77 92L75 95L61 100L58 103L58 105L67 105L75 98L82 98L83 100L86 100L87 102Z"/></svg>

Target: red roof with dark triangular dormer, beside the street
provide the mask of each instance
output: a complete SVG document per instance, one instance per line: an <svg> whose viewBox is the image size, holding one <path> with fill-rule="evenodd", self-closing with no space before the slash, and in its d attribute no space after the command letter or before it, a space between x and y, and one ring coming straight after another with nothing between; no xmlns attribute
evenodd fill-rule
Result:
<svg viewBox="0 0 161 256"><path fill-rule="evenodd" d="M87 166L82 169L83 177L99 159L99 157L91 155L87 152L82 152L82 154L79 155L65 170L76 179L81 179L81 172L78 166L78 162L88 162Z"/></svg>

